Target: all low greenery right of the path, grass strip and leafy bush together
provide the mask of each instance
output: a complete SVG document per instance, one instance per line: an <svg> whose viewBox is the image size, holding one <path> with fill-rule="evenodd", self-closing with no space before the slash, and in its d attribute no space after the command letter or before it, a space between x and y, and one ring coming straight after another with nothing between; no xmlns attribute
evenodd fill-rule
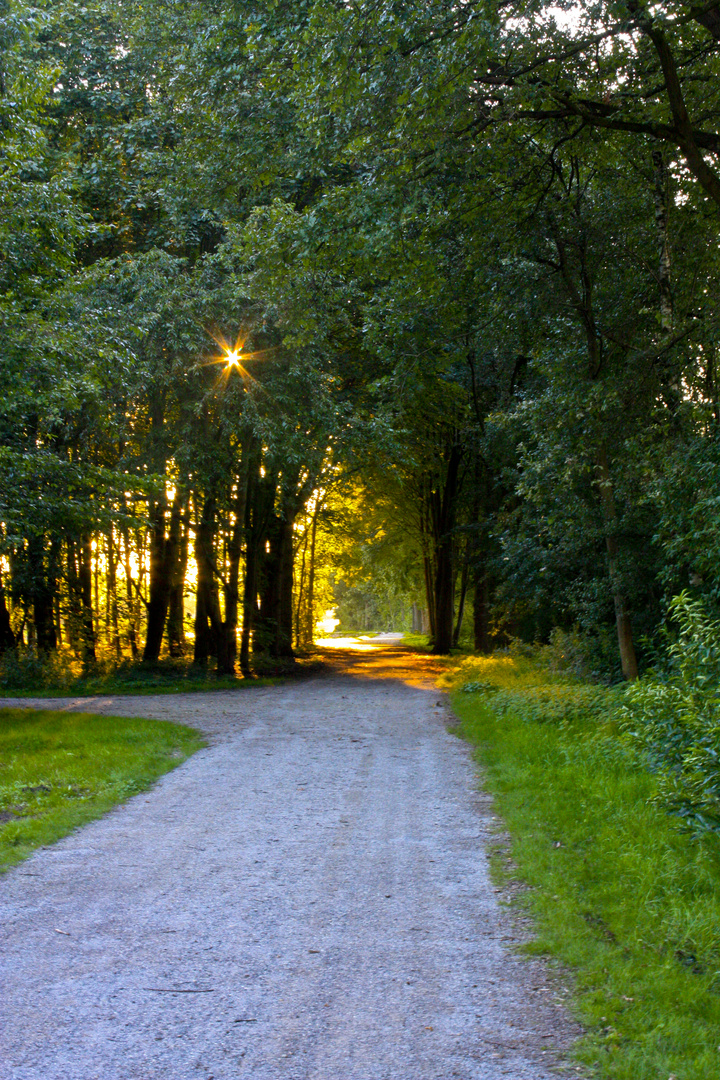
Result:
<svg viewBox="0 0 720 1080"><path fill-rule="evenodd" d="M553 671L542 649L446 677L510 834L497 878L525 883L528 947L572 973L578 1055L609 1080L718 1070L720 635L687 597L675 615L668 663L629 690Z"/></svg>

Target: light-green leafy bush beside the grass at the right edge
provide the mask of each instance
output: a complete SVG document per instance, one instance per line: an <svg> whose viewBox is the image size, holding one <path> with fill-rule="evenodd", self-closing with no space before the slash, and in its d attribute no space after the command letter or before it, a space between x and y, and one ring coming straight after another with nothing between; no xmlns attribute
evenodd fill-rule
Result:
<svg viewBox="0 0 720 1080"><path fill-rule="evenodd" d="M623 724L661 781L660 798L695 832L720 832L720 623L687 593L665 671L628 687Z"/></svg>

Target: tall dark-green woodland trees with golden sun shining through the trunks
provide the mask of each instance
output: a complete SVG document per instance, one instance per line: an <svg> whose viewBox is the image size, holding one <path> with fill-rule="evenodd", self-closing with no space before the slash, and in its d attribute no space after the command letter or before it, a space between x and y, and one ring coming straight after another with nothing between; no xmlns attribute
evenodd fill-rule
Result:
<svg viewBox="0 0 720 1080"><path fill-rule="evenodd" d="M720 598L719 231L715 2L0 0L0 649L633 679Z"/></svg>

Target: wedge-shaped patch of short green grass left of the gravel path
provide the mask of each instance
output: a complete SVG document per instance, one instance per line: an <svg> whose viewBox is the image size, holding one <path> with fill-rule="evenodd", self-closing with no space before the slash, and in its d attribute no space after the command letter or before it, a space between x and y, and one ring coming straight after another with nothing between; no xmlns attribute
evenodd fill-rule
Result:
<svg viewBox="0 0 720 1080"><path fill-rule="evenodd" d="M162 720L0 708L0 873L203 745L196 731Z"/></svg>

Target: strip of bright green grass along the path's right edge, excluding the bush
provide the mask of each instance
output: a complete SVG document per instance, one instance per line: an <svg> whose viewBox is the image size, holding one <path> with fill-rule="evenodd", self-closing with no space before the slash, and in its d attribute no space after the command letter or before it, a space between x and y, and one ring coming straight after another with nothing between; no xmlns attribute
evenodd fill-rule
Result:
<svg viewBox="0 0 720 1080"><path fill-rule="evenodd" d="M720 1072L720 846L653 802L611 691L511 658L465 662L453 694L529 887L534 951L574 972L578 1056L612 1080ZM507 855L510 854L510 861Z"/></svg>

